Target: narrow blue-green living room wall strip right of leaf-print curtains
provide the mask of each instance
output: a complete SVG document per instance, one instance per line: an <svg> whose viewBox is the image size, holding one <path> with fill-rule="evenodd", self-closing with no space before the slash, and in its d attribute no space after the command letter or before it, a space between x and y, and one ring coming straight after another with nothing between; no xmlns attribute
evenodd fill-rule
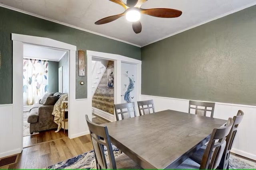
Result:
<svg viewBox="0 0 256 170"><path fill-rule="evenodd" d="M59 63L56 61L48 61L48 92L56 93L59 90L58 81Z"/></svg>

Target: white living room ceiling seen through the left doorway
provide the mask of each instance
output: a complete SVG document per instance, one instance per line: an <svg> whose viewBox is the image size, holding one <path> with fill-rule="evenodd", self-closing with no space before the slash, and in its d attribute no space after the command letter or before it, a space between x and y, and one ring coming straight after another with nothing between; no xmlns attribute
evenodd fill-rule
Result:
<svg viewBox="0 0 256 170"><path fill-rule="evenodd" d="M24 44L23 56L29 59L41 59L48 61L60 61L66 51L51 49L38 45Z"/></svg>

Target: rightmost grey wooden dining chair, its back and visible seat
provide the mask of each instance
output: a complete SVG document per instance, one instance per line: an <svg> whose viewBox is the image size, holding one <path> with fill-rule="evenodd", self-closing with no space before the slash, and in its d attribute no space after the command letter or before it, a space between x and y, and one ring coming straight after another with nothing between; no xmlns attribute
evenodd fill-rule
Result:
<svg viewBox="0 0 256 170"><path fill-rule="evenodd" d="M236 116L233 117L234 123L230 129L228 136L226 137L226 147L224 149L218 169L229 168L228 166L229 166L230 150L233 147L234 138L236 136L238 125L241 123L243 117L244 117L244 112L242 110L238 110ZM195 162L200 163L200 160L202 160L202 156L204 154L205 149L206 149L206 146L204 145L199 150L197 150L190 158Z"/></svg>

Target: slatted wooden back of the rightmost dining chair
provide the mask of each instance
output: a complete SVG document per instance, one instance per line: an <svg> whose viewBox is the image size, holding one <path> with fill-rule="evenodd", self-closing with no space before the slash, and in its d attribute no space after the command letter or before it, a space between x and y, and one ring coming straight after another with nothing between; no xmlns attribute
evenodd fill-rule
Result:
<svg viewBox="0 0 256 170"><path fill-rule="evenodd" d="M242 110L238 110L237 115L233 117L234 123L233 123L232 128L226 138L227 144L226 144L222 159L220 161L220 166L219 166L220 169L228 169L230 150L233 147L234 138L236 136L238 125L241 123L243 117L244 117L244 112Z"/></svg>

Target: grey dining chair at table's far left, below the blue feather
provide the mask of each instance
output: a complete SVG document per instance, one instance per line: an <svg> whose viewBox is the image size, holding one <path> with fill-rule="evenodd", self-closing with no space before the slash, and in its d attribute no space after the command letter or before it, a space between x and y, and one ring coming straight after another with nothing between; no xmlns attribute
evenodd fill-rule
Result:
<svg viewBox="0 0 256 170"><path fill-rule="evenodd" d="M131 113L133 112L134 117L136 116L135 104L131 103L122 103L122 104L114 104L116 111L116 120L123 120L131 118ZM121 119L119 117L121 115Z"/></svg>

